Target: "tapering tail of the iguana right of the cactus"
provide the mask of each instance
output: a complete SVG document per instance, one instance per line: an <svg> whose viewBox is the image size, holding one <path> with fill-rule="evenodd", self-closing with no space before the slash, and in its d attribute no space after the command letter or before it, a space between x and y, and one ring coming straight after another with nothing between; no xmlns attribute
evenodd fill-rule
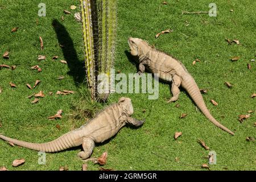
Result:
<svg viewBox="0 0 256 182"><path fill-rule="evenodd" d="M197 86L192 76L189 75L188 77L183 78L183 81L181 82L181 86L185 90L187 90L188 94L191 96L195 104L199 107L202 113L210 120L210 122L220 127L222 130L228 132L229 134L234 135L232 131L227 129L225 126L221 125L221 123L219 123L216 119L214 119L213 116L210 114L209 110L207 109L207 106L205 105L203 96L200 93L199 87Z"/></svg>

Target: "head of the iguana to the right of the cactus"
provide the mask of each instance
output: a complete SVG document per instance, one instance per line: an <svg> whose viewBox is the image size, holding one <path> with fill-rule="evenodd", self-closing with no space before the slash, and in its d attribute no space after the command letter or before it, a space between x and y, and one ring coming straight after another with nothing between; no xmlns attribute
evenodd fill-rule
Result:
<svg viewBox="0 0 256 182"><path fill-rule="evenodd" d="M133 56L144 56L151 49L146 41L139 38L129 38L128 44Z"/></svg>

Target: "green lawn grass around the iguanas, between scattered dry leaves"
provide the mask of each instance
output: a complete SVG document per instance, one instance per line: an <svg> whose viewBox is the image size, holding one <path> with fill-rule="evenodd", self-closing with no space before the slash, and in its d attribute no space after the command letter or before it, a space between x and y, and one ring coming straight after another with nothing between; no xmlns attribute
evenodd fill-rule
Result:
<svg viewBox="0 0 256 182"><path fill-rule="evenodd" d="M255 110L255 22L253 15L256 2L251 1L214 1L217 5L217 17L207 14L181 15L181 11L208 11L208 1L118 1L118 42L115 69L122 73L135 73L137 68L129 61L125 51L129 49L129 36L148 40L150 44L179 58L200 88L209 88L204 100L212 115L229 129L235 131L234 137L212 125L200 111L196 110L191 98L183 91L176 103L167 104L171 97L167 84L159 84L158 100L147 100L148 94L112 94L106 105L116 102L119 97L130 97L135 113L133 117L146 118L146 123L139 129L124 127L119 133L104 144L94 148L92 156L100 156L108 151L108 163L104 168L117 170L205 170L199 166L207 163L205 156L209 151L197 143L201 138L217 153L217 165L212 170L255 170L255 142L247 142L246 137L256 137L255 114L243 123L238 115L247 110ZM72 15L63 14L70 5L79 7L78 1L46 0L46 17L39 17L38 3L24 1L14 3L3 0L0 4L0 54L10 52L10 59L0 57L0 64L17 65L0 70L0 133L28 142L47 142L81 126L88 121L88 113L101 108L102 104L91 104L86 98L87 90L82 84L83 49L81 24L73 18L79 10L70 10ZM233 12L230 10L233 9ZM61 20L64 16L64 21ZM14 18L15 17L15 18ZM38 19L38 24L36 24ZM187 23L186 23L187 21ZM55 22L55 28L52 26ZM189 24L189 26L186 26ZM11 29L19 27L17 32ZM167 28L174 29L171 34L155 34ZM185 34L185 35L184 35ZM40 51L39 36L44 40L44 49ZM241 45L228 45L228 39L238 39ZM59 46L65 43L65 48ZM38 61L38 55L47 59ZM58 60L51 57L58 55ZM232 56L240 60L231 62ZM68 65L59 60L66 59ZM200 59L201 63L192 66L192 61ZM247 63L252 69L247 69ZM38 64L43 71L38 73L30 67ZM63 80L56 80L64 75ZM26 83L42 82L34 89L26 88ZM9 82L18 88L12 89ZM224 82L233 87L227 88ZM38 104L32 105L26 98L32 93L43 90L44 93L57 90L75 90L76 94L68 96L46 96ZM214 99L218 106L210 104ZM175 107L180 104L180 107ZM49 121L48 116L63 109L63 118ZM143 113L142 110L146 112ZM180 119L181 113L188 113ZM86 117L87 116L87 117ZM61 130L56 128L59 124ZM183 135L174 140L175 131ZM82 161L76 157L80 148L47 154L46 165L38 164L38 152L26 148L11 147L0 142L0 166L10 170L57 170L67 165L69 170L80 170ZM155 155L153 152L155 152ZM160 156L159 156L160 155ZM180 163L175 162L179 158ZM14 159L24 158L26 163L14 168ZM97 170L98 165L89 163L88 169Z"/></svg>

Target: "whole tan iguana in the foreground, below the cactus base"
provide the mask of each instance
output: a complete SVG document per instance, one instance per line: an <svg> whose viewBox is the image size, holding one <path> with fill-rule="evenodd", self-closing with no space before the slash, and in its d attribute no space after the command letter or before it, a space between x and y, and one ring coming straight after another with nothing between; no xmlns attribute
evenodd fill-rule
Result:
<svg viewBox="0 0 256 182"><path fill-rule="evenodd" d="M113 137L118 131L130 123L141 126L144 121L131 118L133 105L130 98L121 97L118 103L106 107L94 119L79 129L69 131L61 137L47 143L29 143L0 135L0 138L18 146L44 152L58 152L82 145L84 151L79 152L81 159L87 159L93 152L94 143L101 143Z"/></svg>

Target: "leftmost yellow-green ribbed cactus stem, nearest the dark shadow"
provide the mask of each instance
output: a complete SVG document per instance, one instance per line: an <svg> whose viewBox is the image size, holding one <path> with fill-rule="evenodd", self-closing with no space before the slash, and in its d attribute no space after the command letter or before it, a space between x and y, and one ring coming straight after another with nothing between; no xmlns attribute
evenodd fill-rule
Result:
<svg viewBox="0 0 256 182"><path fill-rule="evenodd" d="M82 14L82 33L85 48L85 67L92 100L96 99L96 70L93 43L92 9L90 0L80 0Z"/></svg>

